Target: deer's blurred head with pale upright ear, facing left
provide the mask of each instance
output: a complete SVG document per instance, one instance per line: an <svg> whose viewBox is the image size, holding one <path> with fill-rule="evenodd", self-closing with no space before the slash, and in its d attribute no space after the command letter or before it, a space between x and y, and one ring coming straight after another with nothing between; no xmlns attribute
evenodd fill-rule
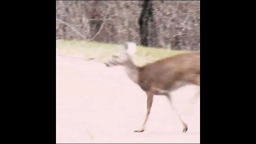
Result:
<svg viewBox="0 0 256 144"><path fill-rule="evenodd" d="M107 67L114 66L124 66L127 63L131 62L132 55L137 51L137 46L135 43L126 42L124 43L125 50L115 53L112 56L112 59L105 63Z"/></svg>

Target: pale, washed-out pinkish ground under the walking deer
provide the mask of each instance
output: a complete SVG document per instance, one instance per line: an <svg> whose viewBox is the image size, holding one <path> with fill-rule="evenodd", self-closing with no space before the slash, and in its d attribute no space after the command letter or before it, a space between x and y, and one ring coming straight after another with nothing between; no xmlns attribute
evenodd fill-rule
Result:
<svg viewBox="0 0 256 144"><path fill-rule="evenodd" d="M187 112L197 87L172 93L187 133L182 133L182 124L162 95L154 97L145 132L135 133L146 116L146 94L122 67L58 55L56 61L57 143L199 143L200 101Z"/></svg>

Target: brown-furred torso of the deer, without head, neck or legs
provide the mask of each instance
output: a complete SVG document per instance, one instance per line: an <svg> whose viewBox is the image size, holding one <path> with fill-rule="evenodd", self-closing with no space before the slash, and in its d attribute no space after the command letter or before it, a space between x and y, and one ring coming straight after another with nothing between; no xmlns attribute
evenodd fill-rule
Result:
<svg viewBox="0 0 256 144"><path fill-rule="evenodd" d="M200 53L191 52L158 60L139 69L139 85L144 91L170 90L174 82L200 85Z"/></svg>

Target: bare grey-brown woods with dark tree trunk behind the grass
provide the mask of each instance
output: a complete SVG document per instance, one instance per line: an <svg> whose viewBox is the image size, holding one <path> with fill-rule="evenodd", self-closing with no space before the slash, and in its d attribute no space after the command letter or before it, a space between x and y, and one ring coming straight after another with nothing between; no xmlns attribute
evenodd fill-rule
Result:
<svg viewBox="0 0 256 144"><path fill-rule="evenodd" d="M200 2L56 1L56 39L200 50Z"/></svg>

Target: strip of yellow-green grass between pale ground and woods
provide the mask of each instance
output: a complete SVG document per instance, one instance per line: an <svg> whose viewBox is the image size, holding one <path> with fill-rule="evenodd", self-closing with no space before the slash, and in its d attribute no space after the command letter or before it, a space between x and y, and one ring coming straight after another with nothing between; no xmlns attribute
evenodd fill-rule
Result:
<svg viewBox="0 0 256 144"><path fill-rule="evenodd" d="M93 61L98 62L106 62L114 53L121 50L124 50L124 46L118 44L56 40L56 53L58 55L83 59L95 58ZM133 61L137 65L142 66L146 63L184 52L186 51L170 51L156 49L154 47L138 46Z"/></svg>

